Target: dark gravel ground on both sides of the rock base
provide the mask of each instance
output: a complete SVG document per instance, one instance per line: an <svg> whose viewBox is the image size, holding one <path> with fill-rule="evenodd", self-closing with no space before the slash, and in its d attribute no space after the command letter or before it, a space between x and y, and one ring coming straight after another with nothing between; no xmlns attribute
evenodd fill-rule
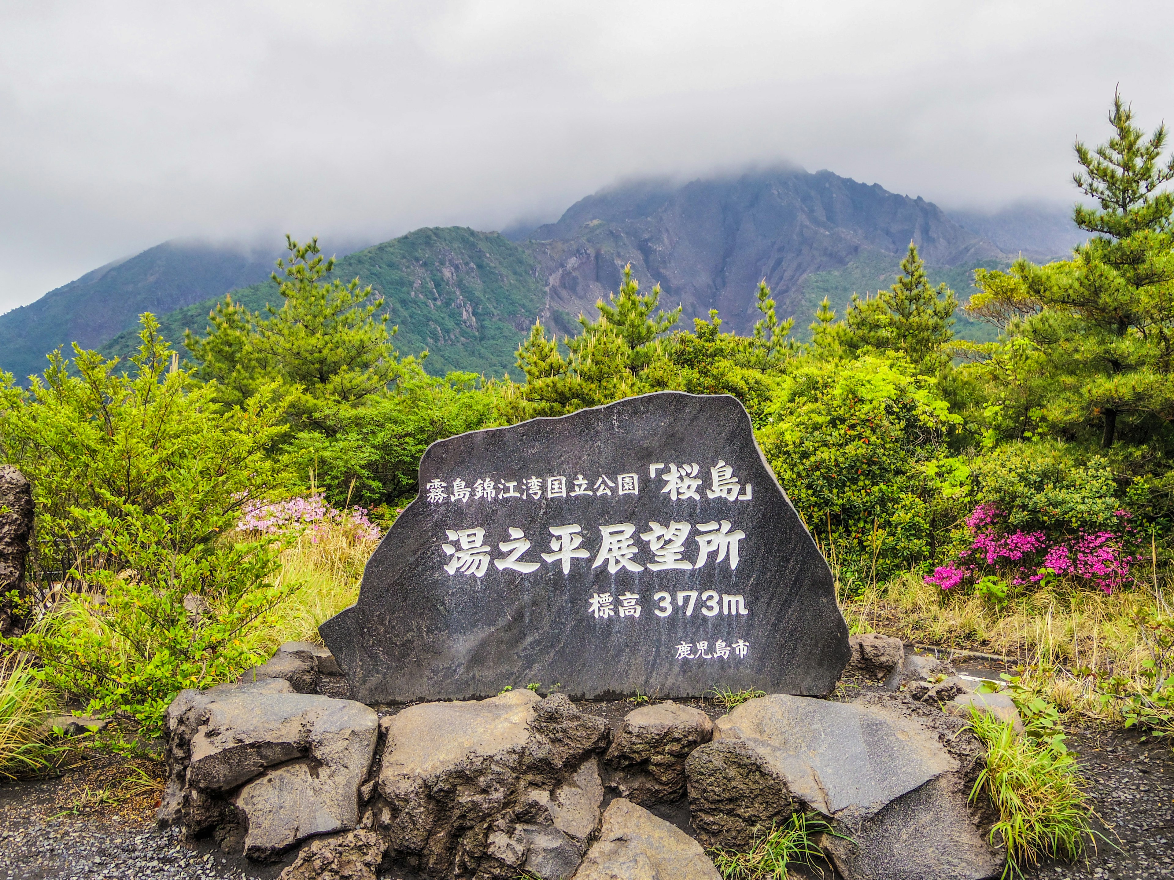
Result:
<svg viewBox="0 0 1174 880"><path fill-rule="evenodd" d="M616 716L609 718L614 723L630 705L612 709L596 711ZM1041 865L1027 876L1174 878L1170 746L1141 742L1131 731L1093 729L1073 732L1070 745L1080 753L1098 830L1109 842L1098 841L1097 851L1074 865ZM175 832L155 831L157 790L143 780L158 772L149 761L101 757L60 778L0 786L0 880L277 876L283 865L225 857L210 842L187 848ZM392 876L399 874L385 880Z"/></svg>

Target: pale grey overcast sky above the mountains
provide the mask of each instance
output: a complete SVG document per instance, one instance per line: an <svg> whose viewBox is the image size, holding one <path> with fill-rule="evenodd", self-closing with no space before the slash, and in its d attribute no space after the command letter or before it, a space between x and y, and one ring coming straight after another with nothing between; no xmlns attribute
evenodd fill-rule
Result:
<svg viewBox="0 0 1174 880"><path fill-rule="evenodd" d="M553 219L778 161L943 207L1074 201L1174 5L0 0L0 312L177 236Z"/></svg>

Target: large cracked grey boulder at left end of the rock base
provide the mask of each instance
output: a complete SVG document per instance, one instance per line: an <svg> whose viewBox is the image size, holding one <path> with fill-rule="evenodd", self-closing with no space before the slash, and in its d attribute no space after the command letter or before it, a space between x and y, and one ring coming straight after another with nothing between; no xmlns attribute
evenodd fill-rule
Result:
<svg viewBox="0 0 1174 880"><path fill-rule="evenodd" d="M169 778L158 811L188 838L214 831L266 859L353 828L378 736L373 710L294 692L279 678L183 691L167 711Z"/></svg>

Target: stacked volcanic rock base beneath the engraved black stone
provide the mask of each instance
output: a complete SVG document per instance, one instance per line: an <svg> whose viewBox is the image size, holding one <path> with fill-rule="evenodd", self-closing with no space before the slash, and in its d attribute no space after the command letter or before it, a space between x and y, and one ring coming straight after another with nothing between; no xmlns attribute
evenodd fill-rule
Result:
<svg viewBox="0 0 1174 880"><path fill-rule="evenodd" d="M380 717L299 692L331 675L308 648L176 698L161 824L257 860L297 851L285 880L375 880L392 865L437 880L716 880L703 846L745 848L796 812L832 830L822 844L848 880L1003 869L992 817L969 801L981 747L925 688L912 689L920 702L771 695L716 722L666 702L618 731L526 690ZM890 649L858 651L855 671L900 672ZM674 804L690 833L650 812Z"/></svg>

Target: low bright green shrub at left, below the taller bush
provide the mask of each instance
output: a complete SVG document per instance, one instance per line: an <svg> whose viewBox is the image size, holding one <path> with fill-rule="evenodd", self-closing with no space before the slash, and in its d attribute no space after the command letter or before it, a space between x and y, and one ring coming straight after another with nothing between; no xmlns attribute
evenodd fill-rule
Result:
<svg viewBox="0 0 1174 880"><path fill-rule="evenodd" d="M231 681L266 658L256 644L262 618L296 587L271 581L271 541L184 548L178 528L130 505L117 517L77 515L101 535L96 549L126 568L94 570L95 591L8 641L36 655L47 684L88 699L92 712L128 712L153 733L184 688Z"/></svg>

